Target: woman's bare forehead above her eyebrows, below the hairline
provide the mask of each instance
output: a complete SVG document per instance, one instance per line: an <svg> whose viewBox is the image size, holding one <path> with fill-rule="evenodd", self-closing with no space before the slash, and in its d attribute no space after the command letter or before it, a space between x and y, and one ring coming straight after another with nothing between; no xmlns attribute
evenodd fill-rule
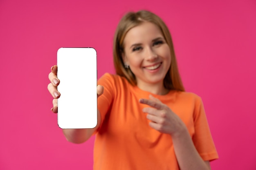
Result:
<svg viewBox="0 0 256 170"><path fill-rule="evenodd" d="M134 43L151 42L155 38L164 36L159 27L151 22L143 22L142 24L130 29L124 38L124 45Z"/></svg>

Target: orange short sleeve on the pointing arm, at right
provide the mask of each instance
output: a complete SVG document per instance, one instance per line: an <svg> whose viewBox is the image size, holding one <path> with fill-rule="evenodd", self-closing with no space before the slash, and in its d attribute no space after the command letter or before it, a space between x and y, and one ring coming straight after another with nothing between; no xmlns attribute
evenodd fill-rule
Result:
<svg viewBox="0 0 256 170"><path fill-rule="evenodd" d="M195 134L192 139L198 153L204 161L218 159L218 153L211 136L204 105L200 97L195 102L193 119Z"/></svg>

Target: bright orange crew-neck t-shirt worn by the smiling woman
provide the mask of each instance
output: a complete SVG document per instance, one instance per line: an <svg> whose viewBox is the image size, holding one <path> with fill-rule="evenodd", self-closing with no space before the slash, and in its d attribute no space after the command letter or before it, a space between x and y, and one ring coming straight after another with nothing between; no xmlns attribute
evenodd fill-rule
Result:
<svg viewBox="0 0 256 170"><path fill-rule="evenodd" d="M171 135L151 128L142 112L148 106L139 99L150 93L108 73L98 84L104 93L98 98L101 126L95 132L94 170L179 170ZM200 97L179 91L153 96L184 121L202 159L218 158Z"/></svg>

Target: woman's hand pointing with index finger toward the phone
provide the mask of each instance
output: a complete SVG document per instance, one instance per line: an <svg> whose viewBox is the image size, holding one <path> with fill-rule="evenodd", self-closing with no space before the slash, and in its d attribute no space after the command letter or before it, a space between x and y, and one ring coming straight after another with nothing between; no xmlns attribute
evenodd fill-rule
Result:
<svg viewBox="0 0 256 170"><path fill-rule="evenodd" d="M180 135L186 129L180 117L159 99L149 95L149 99L139 99L139 102L151 106L143 108L142 111L148 113L147 119L151 121L149 126L155 130L175 136Z"/></svg>

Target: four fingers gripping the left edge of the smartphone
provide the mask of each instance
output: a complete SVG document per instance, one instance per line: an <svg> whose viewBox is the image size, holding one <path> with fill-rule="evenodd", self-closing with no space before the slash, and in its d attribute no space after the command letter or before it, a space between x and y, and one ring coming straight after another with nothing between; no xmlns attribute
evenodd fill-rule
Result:
<svg viewBox="0 0 256 170"><path fill-rule="evenodd" d="M47 88L48 91L51 93L52 97L54 98L52 100L53 107L51 108L53 113L58 113L58 98L61 96L61 93L58 92L57 86L60 84L60 80L57 77L57 71L58 67L52 66L51 73L49 73L49 80L51 83L48 84Z"/></svg>

